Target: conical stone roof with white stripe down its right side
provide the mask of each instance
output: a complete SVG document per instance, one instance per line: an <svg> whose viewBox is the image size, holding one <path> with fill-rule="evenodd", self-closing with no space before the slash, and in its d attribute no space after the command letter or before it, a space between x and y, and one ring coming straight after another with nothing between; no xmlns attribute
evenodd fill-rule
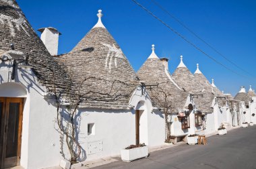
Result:
<svg viewBox="0 0 256 169"><path fill-rule="evenodd" d="M156 56L154 52L154 46L152 46L152 54L150 54L150 57L146 60L146 62L143 63L141 68L139 68L137 75L139 76L139 79L146 82L146 84L158 84L158 88L155 87L154 90L148 90L148 93L150 95L156 95L156 91L158 90L164 90L166 94L170 94L171 97L168 97L169 103L172 104L170 112L171 113L178 113L179 110L185 109L185 103L187 100L187 96L189 93L183 91L181 87L172 79L172 76L170 75L170 72L164 67L158 56ZM163 99L160 98L158 99ZM152 103L156 107L161 107L158 99L155 99L152 97ZM164 101L161 101L164 103Z"/></svg>

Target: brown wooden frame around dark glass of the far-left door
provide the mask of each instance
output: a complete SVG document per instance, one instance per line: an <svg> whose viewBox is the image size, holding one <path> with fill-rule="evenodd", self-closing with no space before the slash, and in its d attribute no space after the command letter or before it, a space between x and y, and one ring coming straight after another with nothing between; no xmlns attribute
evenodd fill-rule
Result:
<svg viewBox="0 0 256 169"><path fill-rule="evenodd" d="M1 133L0 133L0 168L5 168L5 162L11 161L15 157L9 159L5 158L6 146L7 146L7 125L9 117L9 103L20 103L19 109L19 121L18 121L18 146L17 146L17 159L16 166L20 165L21 148L22 148L22 120L23 120L23 109L24 109L24 98L22 97L0 97L0 101L3 101L3 114L1 120Z"/></svg>

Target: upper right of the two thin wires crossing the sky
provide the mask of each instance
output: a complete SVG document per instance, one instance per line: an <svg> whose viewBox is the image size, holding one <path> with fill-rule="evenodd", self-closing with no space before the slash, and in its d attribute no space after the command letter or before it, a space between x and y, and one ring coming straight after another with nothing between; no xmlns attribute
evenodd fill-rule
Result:
<svg viewBox="0 0 256 169"><path fill-rule="evenodd" d="M193 32L191 29L189 29L189 27L187 27L187 25L185 25L182 21L180 21L179 19L177 19L177 17L174 17L174 15L172 15L169 11L167 11L166 9L164 9L164 7L162 7L159 3L157 3L154 0L151 0L155 5L157 5L158 7L160 7L160 9L162 9L162 11L166 12L170 17L172 17L172 19L174 19L175 21L177 21L178 23L180 23L180 25L182 25L183 27L185 27L186 30L188 30L191 34L193 34L193 36L195 36L196 38L198 38L199 40L201 40L201 42L203 42L204 44L206 44L209 48L211 48L212 50L214 50L217 54L219 54L220 56L222 56L222 58L226 59L228 62L230 62L231 64L233 64L234 66L236 66L236 68L239 68L240 70L243 70L244 72L247 72L247 74L250 74L251 76L254 76L253 74L251 74L250 72L248 72L247 70L241 68L240 66L238 66L237 64L235 64L234 62L232 62L230 59L228 59L226 56L224 56L224 54L220 53L218 50L216 50L216 48L214 48L213 46L211 46L210 44L208 44L207 42L205 42L205 40L203 40L202 38L200 38L197 34L195 34L195 32Z"/></svg>

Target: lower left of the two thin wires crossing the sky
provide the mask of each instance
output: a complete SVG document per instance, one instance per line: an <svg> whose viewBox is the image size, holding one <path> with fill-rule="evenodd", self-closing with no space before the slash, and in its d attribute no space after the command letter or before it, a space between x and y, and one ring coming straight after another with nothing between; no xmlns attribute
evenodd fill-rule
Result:
<svg viewBox="0 0 256 169"><path fill-rule="evenodd" d="M226 68L227 70L229 70L230 72L233 72L234 74L238 75L238 76L243 76L243 74L239 74L238 72L228 68L227 66L225 66L224 64L222 64L221 62L219 62L218 60L216 60L215 58L213 58L212 56L210 56L209 54L205 53L203 50L201 50L199 47L197 47L195 44L193 44L192 42L190 42L189 40L187 40L187 38L185 38L183 35L181 35L179 32L177 32L176 30L174 30L172 27L170 27L167 23L165 23L164 21L162 21L162 19L160 19L159 17L157 17L156 15L154 15L154 13L152 13L151 11L149 11L148 9L146 9L146 7L143 7L141 4L139 4L137 1L135 0L131 0L134 3L136 3L139 7L141 7L142 9L144 9L145 11L147 11L150 15L152 15L154 18L158 19L158 21L160 21L161 23L163 23L166 27L168 27L169 30L171 30L172 32L174 32L174 34L177 34L179 37L181 37L183 40L185 40L188 44L190 44L191 46L193 46L195 49L199 50L199 52L201 52L202 54L204 54L205 56L207 56L208 58L210 58L211 60L214 60L214 62L216 62L217 64L220 64L222 67ZM247 76L243 76L244 78L248 78Z"/></svg>

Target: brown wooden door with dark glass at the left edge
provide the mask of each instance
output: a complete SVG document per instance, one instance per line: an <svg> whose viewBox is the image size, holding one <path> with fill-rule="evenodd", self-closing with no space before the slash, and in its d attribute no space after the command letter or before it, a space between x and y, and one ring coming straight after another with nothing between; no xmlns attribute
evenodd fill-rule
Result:
<svg viewBox="0 0 256 169"><path fill-rule="evenodd" d="M0 168L20 165L23 98L0 97Z"/></svg>

